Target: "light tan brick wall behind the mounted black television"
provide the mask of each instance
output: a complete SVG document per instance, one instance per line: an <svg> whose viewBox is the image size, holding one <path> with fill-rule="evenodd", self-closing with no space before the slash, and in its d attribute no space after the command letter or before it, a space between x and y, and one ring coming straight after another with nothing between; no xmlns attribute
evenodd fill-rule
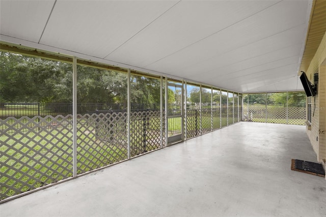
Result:
<svg viewBox="0 0 326 217"><path fill-rule="evenodd" d="M315 99L311 98L311 112L315 114L312 117L311 130L307 128L307 134L317 154L317 160L320 162L326 158L326 33L306 73L312 83L313 74L318 73L319 76L318 94ZM313 110L314 100L316 101L315 110Z"/></svg>

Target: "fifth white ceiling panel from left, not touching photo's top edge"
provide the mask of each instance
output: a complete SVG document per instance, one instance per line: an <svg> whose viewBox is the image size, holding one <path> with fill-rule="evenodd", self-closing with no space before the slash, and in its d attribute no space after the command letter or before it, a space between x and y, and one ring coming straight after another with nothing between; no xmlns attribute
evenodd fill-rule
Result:
<svg viewBox="0 0 326 217"><path fill-rule="evenodd" d="M288 31L276 34L274 36L268 37L263 40L251 43L246 46L239 47L229 52L225 52L222 55L211 57L200 63L190 64L181 69L181 71L186 71L187 74L195 75L198 71L205 73L207 76L220 76L231 73L232 71L226 70L227 66L235 65L239 62L247 61L250 59L256 59L255 62L251 61L251 66L260 65L257 62L257 58L261 56L266 56L273 62L273 57L283 56L284 48L287 49L287 57L298 56L302 47L302 41L304 40L305 25L297 26L296 28L290 29ZM301 36L301 37L298 37ZM295 45L295 48L291 45ZM271 56L271 57L269 57ZM297 59L298 61L298 59ZM242 70L243 67L239 66L235 70ZM294 72L295 74L295 72Z"/></svg>

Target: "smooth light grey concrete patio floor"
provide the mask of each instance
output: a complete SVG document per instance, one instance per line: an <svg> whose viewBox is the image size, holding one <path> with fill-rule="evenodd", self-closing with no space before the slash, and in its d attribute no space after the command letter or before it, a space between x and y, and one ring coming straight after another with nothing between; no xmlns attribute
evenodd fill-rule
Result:
<svg viewBox="0 0 326 217"><path fill-rule="evenodd" d="M326 216L305 126L240 122L0 205L4 216Z"/></svg>

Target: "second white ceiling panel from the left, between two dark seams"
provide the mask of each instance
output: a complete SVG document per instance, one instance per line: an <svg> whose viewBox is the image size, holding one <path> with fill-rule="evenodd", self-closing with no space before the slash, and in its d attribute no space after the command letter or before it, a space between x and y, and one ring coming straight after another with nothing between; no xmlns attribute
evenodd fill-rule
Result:
<svg viewBox="0 0 326 217"><path fill-rule="evenodd" d="M58 1L40 42L104 58L176 3Z"/></svg>

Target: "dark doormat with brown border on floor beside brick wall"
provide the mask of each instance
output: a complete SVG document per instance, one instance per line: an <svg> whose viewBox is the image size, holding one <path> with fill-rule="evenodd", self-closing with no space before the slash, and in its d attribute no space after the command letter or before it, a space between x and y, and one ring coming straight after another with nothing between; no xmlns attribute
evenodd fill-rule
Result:
<svg viewBox="0 0 326 217"><path fill-rule="evenodd" d="M291 170L325 177L325 171L322 164L316 162L291 159Z"/></svg>

